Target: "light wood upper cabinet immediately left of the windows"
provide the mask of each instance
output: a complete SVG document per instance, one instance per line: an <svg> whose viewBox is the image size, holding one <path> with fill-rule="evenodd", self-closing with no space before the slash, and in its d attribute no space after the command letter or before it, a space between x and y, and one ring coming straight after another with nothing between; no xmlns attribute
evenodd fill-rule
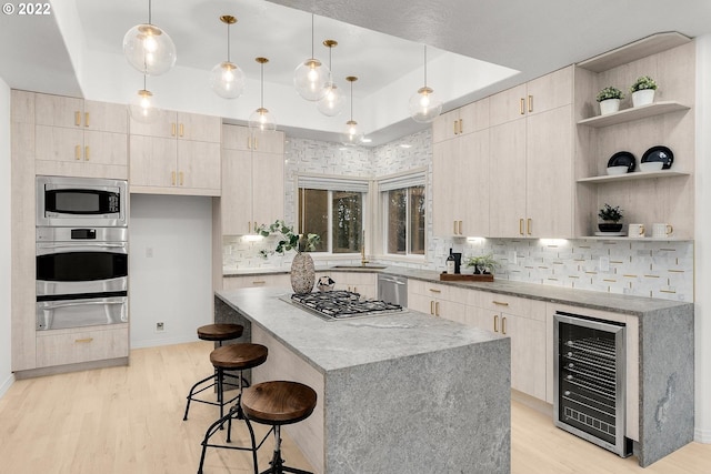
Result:
<svg viewBox="0 0 711 474"><path fill-rule="evenodd" d="M283 132L259 135L253 147L249 129L223 127L222 235L244 235L284 214ZM262 151L269 150L269 151Z"/></svg>

